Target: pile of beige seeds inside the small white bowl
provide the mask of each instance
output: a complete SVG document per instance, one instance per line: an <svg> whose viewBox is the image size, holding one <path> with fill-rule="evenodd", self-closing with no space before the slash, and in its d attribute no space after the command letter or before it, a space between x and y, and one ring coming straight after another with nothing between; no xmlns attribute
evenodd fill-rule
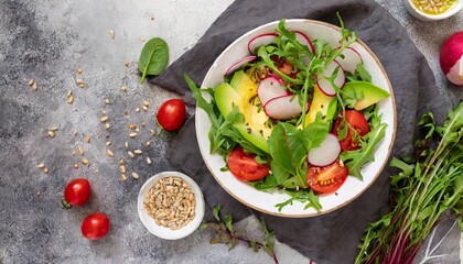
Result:
<svg viewBox="0 0 463 264"><path fill-rule="evenodd" d="M165 177L148 191L143 205L158 226L177 230L194 219L196 198L185 180Z"/></svg>

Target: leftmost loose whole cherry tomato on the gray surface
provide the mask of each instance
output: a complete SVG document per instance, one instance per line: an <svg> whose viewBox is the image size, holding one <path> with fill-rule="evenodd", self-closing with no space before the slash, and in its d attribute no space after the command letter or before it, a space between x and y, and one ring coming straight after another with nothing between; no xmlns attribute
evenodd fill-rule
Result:
<svg viewBox="0 0 463 264"><path fill-rule="evenodd" d="M71 206L84 206L91 196L90 183L84 178L76 178L64 189L64 201ZM67 206L68 206L67 205Z"/></svg>

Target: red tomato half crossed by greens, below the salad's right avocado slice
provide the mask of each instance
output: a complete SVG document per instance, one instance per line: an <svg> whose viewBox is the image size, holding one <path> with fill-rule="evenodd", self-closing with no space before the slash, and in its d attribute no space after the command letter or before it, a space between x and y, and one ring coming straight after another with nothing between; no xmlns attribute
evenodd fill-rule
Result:
<svg viewBox="0 0 463 264"><path fill-rule="evenodd" d="M354 140L354 131L357 131L358 135L363 136L369 132L368 121L365 119L365 116L356 110L346 110L345 111L346 122L351 124L348 128L347 135L344 140L341 141L341 148L343 151L353 151L360 148L359 142ZM333 133L337 136L337 129L341 125L343 118L337 118L336 123L333 127ZM352 129L353 128L353 129Z"/></svg>

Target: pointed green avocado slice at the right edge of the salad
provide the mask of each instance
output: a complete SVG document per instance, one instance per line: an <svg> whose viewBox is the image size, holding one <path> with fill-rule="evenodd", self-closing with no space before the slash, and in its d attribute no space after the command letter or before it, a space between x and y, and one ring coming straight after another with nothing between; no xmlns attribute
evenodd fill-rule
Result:
<svg viewBox="0 0 463 264"><path fill-rule="evenodd" d="M389 92L375 86L368 81L349 81L344 85L343 91L362 99L357 99L353 106L355 110L364 110L365 108L377 103L378 101L389 97Z"/></svg>

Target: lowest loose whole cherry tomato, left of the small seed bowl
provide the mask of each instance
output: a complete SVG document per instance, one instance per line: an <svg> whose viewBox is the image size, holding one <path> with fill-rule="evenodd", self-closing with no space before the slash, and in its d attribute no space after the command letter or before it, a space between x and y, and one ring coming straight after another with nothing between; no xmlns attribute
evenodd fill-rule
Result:
<svg viewBox="0 0 463 264"><path fill-rule="evenodd" d="M88 216L82 222L82 234L89 240L98 240L109 232L109 218L101 212Z"/></svg>

